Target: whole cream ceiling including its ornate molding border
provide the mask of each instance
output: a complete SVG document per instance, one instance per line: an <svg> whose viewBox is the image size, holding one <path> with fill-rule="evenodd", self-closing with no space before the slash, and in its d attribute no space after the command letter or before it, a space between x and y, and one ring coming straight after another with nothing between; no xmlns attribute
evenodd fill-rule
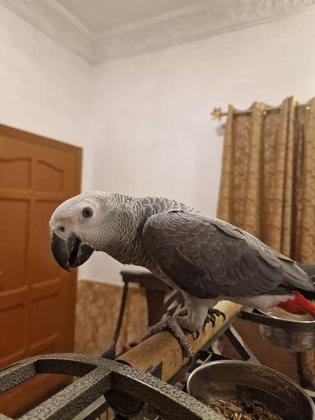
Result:
<svg viewBox="0 0 315 420"><path fill-rule="evenodd" d="M315 0L0 0L92 64L314 13Z"/></svg>

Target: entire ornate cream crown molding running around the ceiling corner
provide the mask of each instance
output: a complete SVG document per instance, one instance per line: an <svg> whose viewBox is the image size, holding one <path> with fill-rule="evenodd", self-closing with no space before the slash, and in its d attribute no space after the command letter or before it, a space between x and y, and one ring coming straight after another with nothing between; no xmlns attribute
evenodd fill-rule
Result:
<svg viewBox="0 0 315 420"><path fill-rule="evenodd" d="M315 0L203 0L94 34L55 0L0 3L90 63L141 55L315 10Z"/></svg>

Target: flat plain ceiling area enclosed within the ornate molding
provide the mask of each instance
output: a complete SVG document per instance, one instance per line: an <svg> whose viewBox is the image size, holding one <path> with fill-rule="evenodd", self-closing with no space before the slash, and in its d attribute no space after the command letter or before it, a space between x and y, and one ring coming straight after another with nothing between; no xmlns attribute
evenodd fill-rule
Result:
<svg viewBox="0 0 315 420"><path fill-rule="evenodd" d="M91 31L99 33L192 6L200 0L58 0L58 3Z"/></svg>

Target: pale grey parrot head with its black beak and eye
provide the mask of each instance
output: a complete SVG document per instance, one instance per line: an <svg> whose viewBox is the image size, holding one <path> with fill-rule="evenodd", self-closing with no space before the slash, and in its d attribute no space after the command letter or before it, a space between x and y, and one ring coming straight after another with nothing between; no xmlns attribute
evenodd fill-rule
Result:
<svg viewBox="0 0 315 420"><path fill-rule="evenodd" d="M70 271L102 250L115 218L117 209L107 193L89 191L60 204L49 222L51 250L60 267Z"/></svg>

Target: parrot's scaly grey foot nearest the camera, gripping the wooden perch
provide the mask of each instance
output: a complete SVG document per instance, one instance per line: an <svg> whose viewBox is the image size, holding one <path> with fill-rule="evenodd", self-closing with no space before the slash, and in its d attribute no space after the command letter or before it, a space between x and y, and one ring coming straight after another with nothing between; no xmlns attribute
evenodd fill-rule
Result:
<svg viewBox="0 0 315 420"><path fill-rule="evenodd" d="M172 334L174 337L176 337L181 346L181 349L183 350L183 355L191 359L194 355L193 348L190 346L186 335L183 333L183 328L186 328L186 322L187 318L183 316L167 316L167 318L165 318L163 321L160 321L157 324L152 325L152 327L149 327L146 335L144 335L140 341L144 342L145 339L162 330L171 330Z"/></svg>

